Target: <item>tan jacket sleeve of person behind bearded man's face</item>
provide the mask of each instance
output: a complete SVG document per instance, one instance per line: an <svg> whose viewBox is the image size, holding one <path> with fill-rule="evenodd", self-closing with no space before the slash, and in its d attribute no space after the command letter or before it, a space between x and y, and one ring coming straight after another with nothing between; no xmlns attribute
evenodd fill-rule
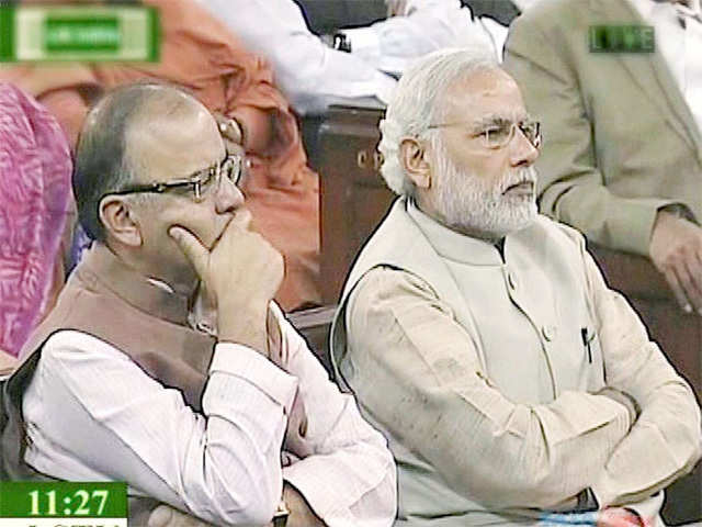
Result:
<svg viewBox="0 0 702 527"><path fill-rule="evenodd" d="M671 201L620 198L604 186L575 65L568 63L561 33L546 34L540 27L537 20L548 14L541 8L512 23L503 63L543 125L545 142L536 161L540 208L591 242L648 256L656 213ZM555 25L552 18L547 23Z"/></svg>

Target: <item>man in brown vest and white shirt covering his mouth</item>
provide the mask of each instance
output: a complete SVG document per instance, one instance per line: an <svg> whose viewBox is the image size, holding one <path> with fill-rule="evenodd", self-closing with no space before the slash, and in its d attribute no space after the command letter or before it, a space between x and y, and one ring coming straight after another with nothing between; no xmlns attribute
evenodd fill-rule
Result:
<svg viewBox="0 0 702 527"><path fill-rule="evenodd" d="M290 526L390 525L392 456L271 302L283 262L249 228L240 162L172 87L88 114L73 191L98 242L7 383L4 470L126 481L132 525L159 502L261 525L281 493Z"/></svg>

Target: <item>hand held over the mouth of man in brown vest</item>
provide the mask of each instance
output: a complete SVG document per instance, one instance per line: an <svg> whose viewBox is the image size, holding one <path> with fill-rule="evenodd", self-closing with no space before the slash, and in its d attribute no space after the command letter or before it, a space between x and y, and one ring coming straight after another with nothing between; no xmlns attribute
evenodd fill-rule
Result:
<svg viewBox="0 0 702 527"><path fill-rule="evenodd" d="M237 212L212 250L182 227L173 226L169 234L217 310L218 339L244 344L268 356L268 305L283 280L283 258L249 229L250 221L248 211Z"/></svg>

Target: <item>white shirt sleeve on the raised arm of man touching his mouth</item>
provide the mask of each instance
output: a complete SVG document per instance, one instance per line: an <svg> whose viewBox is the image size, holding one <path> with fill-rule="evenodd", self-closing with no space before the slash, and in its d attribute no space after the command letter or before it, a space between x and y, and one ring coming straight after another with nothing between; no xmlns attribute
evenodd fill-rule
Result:
<svg viewBox="0 0 702 527"><path fill-rule="evenodd" d="M297 382L244 346L214 354L203 415L106 343L55 334L23 400L25 459L61 479L126 481L217 525L269 522Z"/></svg>

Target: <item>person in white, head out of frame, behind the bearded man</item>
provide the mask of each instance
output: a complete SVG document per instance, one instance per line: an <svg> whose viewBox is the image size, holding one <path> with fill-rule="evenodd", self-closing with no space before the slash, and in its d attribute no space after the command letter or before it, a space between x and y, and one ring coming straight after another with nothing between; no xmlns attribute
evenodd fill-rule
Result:
<svg viewBox="0 0 702 527"><path fill-rule="evenodd" d="M483 46L501 54L507 29L473 18L458 0L199 0L213 16L268 57L301 114L337 98L387 103L407 64L442 47ZM511 5L509 0L508 3ZM385 20L370 23L375 16ZM348 27L366 22L360 27ZM315 31L329 31L320 38Z"/></svg>

